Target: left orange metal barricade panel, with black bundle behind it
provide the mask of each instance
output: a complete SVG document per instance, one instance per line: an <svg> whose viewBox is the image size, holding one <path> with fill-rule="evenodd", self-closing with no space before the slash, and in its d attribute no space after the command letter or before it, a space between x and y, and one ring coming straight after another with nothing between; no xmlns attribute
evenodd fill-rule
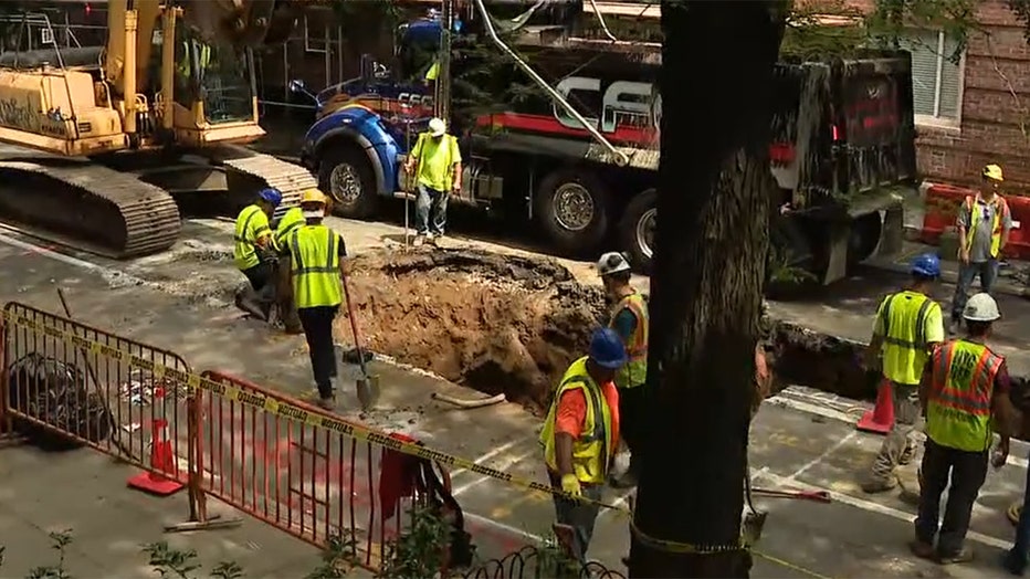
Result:
<svg viewBox="0 0 1030 579"><path fill-rule="evenodd" d="M6 422L43 446L83 444L186 482L190 369L180 356L15 302L3 322L0 431ZM169 444L168 462L155 464L155 445Z"/></svg>

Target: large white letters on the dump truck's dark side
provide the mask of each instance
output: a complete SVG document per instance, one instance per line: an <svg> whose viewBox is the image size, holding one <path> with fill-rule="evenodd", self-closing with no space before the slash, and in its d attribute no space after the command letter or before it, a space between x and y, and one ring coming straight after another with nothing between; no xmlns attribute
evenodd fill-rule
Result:
<svg viewBox="0 0 1030 579"><path fill-rule="evenodd" d="M603 86L600 78L567 76L555 87L601 133L620 126L656 129L662 117L662 96L651 83L616 81ZM600 118L596 117L600 113ZM584 128L564 107L555 103L555 118L567 128Z"/></svg>

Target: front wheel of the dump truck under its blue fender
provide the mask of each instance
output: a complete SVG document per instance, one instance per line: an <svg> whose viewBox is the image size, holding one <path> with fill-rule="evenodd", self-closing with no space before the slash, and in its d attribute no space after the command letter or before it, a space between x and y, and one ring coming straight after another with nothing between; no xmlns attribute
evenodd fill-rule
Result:
<svg viewBox="0 0 1030 579"><path fill-rule="evenodd" d="M326 150L318 162L318 187L333 200L333 213L368 219L379 207L379 196L368 156L356 146Z"/></svg>

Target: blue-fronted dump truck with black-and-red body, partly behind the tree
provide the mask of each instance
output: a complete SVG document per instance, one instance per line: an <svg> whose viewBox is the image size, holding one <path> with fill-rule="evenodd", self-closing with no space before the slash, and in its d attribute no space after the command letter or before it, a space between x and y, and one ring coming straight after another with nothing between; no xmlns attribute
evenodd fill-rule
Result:
<svg viewBox="0 0 1030 579"><path fill-rule="evenodd" d="M543 14L549 18L543 23L532 7L507 21L485 18L512 2L448 3L453 14L398 30L391 64L366 62L360 77L312 94L318 113L302 161L336 211L371 218L382 199L410 196L404 155L439 115L465 159L452 203L523 215L565 254L616 246L648 271L660 45L574 35L568 7L576 2L561 2L561 12ZM487 49L505 64L491 65ZM427 81L434 64L437 81ZM779 185L771 200L774 266L830 283L877 250L900 251L902 193L916 188L910 55L785 61L770 97L769 154Z"/></svg>

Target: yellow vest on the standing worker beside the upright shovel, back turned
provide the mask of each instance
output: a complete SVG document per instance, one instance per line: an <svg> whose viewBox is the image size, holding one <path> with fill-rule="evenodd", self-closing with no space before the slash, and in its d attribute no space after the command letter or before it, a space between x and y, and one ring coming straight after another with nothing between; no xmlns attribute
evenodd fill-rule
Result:
<svg viewBox="0 0 1030 579"><path fill-rule="evenodd" d="M325 225L304 225L290 235L293 295L298 308L344 302L339 243L339 233Z"/></svg>

